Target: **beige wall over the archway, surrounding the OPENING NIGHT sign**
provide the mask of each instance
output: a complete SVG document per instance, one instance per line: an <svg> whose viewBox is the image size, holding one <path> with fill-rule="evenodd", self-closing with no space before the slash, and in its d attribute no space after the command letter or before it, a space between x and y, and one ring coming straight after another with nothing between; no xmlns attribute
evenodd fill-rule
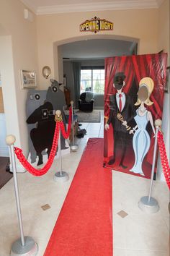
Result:
<svg viewBox="0 0 170 256"><path fill-rule="evenodd" d="M91 17L104 17L114 22L112 31L103 31L100 34L86 32L81 33L79 25ZM121 18L123 17L123 19ZM45 80L41 75L42 67L48 65L52 70L52 77L60 80L60 65L57 65L58 56L55 53L55 46L69 43L75 40L86 40L86 38L110 38L128 40L129 38L139 39L138 53L152 54L158 49L158 9L133 9L104 12L76 12L66 14L50 14L37 16L37 44L38 61L41 88L45 89Z"/></svg>

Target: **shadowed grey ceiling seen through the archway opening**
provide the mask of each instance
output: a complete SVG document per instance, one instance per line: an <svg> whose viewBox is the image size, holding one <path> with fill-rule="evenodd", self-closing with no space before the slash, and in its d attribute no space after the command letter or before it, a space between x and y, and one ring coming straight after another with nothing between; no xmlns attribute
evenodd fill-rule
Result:
<svg viewBox="0 0 170 256"><path fill-rule="evenodd" d="M131 55L135 42L112 39L81 40L58 46L64 59L104 59Z"/></svg>

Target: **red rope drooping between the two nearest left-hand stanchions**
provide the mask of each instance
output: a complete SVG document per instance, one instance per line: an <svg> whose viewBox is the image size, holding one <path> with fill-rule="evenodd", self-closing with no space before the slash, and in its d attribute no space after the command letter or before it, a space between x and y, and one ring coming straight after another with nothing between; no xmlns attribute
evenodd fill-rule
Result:
<svg viewBox="0 0 170 256"><path fill-rule="evenodd" d="M53 159L55 157L55 153L56 153L56 150L57 150L60 126L61 126L61 122L57 121L56 126L55 126L54 137L53 137L53 145L52 145L52 148L50 150L50 155L49 155L49 158L48 158L48 162L45 164L45 166L43 168L40 168L40 169L34 168L27 161L27 159L24 157L24 155L22 154L22 150L20 148L14 147L14 153L17 155L17 158L18 158L19 162L22 163L22 166L24 166L24 168L27 171L29 171L30 174L32 174L34 176L42 176L42 175L44 175L48 172L50 166L53 163Z"/></svg>

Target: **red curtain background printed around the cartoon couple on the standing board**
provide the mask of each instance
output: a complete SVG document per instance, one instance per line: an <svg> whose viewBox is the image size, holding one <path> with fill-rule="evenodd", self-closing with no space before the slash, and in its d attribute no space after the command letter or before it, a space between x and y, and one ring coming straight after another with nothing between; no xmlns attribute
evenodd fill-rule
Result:
<svg viewBox="0 0 170 256"><path fill-rule="evenodd" d="M150 95L150 100L153 102L151 106L146 106L146 111L151 112L153 117L153 123L156 119L162 118L163 103L164 103L164 86L166 82L166 59L167 54L146 54L146 55L133 55L133 56L116 56L105 59L105 89L104 89L104 123L107 124L112 109L112 95L116 95L117 90L113 87L114 77L117 73L125 74L125 86L122 88L122 92L133 103L135 109L135 115L138 113L139 106L135 106L138 99L139 83L143 77L151 77L154 87ZM134 116L135 117L135 116ZM109 121L108 121L109 122ZM136 125L136 121L133 118L130 121L130 127L133 128ZM148 153L146 153L142 162L143 174L133 173L130 169L136 161L136 155L134 150L134 135L130 135L127 132L125 137L115 137L114 125L109 123L109 129L104 129L104 166L112 168L117 171L123 171L128 174L134 174L138 176L144 176L146 178L151 177L151 165L153 161L153 145L154 137L151 124L147 124L146 131L150 137L150 144ZM118 136L121 134L117 133ZM148 136L147 135L147 136ZM112 158L115 150L114 137L117 140L117 153L115 160L112 163ZM123 163L120 163L121 145L119 140L126 141L125 157ZM121 142L120 142L121 144ZM120 150L119 150L120 147ZM138 154L137 154L138 155ZM111 160L111 161L110 161Z"/></svg>

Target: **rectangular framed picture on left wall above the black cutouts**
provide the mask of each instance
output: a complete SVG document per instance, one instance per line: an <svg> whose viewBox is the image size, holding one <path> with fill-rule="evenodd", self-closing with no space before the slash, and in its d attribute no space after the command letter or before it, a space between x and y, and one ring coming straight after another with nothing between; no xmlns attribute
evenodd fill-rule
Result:
<svg viewBox="0 0 170 256"><path fill-rule="evenodd" d="M35 71L21 70L21 80L23 89L35 88L37 86Z"/></svg>

